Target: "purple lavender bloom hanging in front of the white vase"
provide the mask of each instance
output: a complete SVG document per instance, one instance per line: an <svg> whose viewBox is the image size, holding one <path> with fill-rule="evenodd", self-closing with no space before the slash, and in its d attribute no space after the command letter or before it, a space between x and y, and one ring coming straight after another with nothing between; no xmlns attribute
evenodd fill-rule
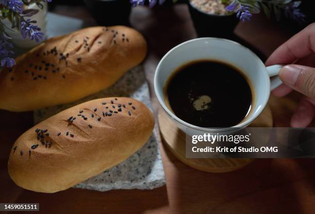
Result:
<svg viewBox="0 0 315 214"><path fill-rule="evenodd" d="M30 23L30 20L21 22L21 35L23 38L28 36L31 41L35 40L38 43L40 40L43 40L44 33L40 32L41 29L38 26Z"/></svg>

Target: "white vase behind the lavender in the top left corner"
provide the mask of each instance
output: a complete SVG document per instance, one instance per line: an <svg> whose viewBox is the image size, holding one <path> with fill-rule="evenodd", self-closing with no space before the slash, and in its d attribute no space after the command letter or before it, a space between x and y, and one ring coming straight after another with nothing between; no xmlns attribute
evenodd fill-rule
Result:
<svg viewBox="0 0 315 214"><path fill-rule="evenodd" d="M45 37L46 37L46 30L47 30L47 2L43 2L42 3L44 8L40 9L35 3L24 7L24 9L38 9L38 13L31 16L31 17L25 17L25 18L30 18L31 21L37 21L36 24L38 27L41 28L41 32L45 33ZM11 23L9 22L9 20L5 19L3 20L3 23L11 29ZM14 46L19 47L19 48L25 48L25 49L29 49L29 48L33 48L35 46L38 45L38 43L36 43L34 40L30 41L29 37L26 37L25 39L23 39L21 33L19 30L17 30L16 28L10 30L10 29L6 29L6 33L8 33L11 37L12 37L12 43L14 44Z"/></svg>

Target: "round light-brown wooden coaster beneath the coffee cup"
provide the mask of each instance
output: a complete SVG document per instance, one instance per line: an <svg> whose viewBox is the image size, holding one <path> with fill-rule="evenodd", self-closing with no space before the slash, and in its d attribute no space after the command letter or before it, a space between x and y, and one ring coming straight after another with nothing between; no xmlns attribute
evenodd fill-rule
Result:
<svg viewBox="0 0 315 214"><path fill-rule="evenodd" d="M166 113L160 109L159 126L161 130L162 141L169 150L184 164L195 169L206 172L229 172L239 169L251 163L254 159L187 159L186 158L186 135L169 118ZM264 111L250 125L250 127L272 127L271 109L267 105Z"/></svg>

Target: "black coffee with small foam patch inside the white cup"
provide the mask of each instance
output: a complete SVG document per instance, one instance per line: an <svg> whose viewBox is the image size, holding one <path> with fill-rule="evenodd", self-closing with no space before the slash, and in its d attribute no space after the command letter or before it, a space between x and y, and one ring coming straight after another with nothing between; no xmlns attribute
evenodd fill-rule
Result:
<svg viewBox="0 0 315 214"><path fill-rule="evenodd" d="M240 123L253 99L249 83L237 68L206 60L178 68L166 84L165 97L180 119L211 128Z"/></svg>

